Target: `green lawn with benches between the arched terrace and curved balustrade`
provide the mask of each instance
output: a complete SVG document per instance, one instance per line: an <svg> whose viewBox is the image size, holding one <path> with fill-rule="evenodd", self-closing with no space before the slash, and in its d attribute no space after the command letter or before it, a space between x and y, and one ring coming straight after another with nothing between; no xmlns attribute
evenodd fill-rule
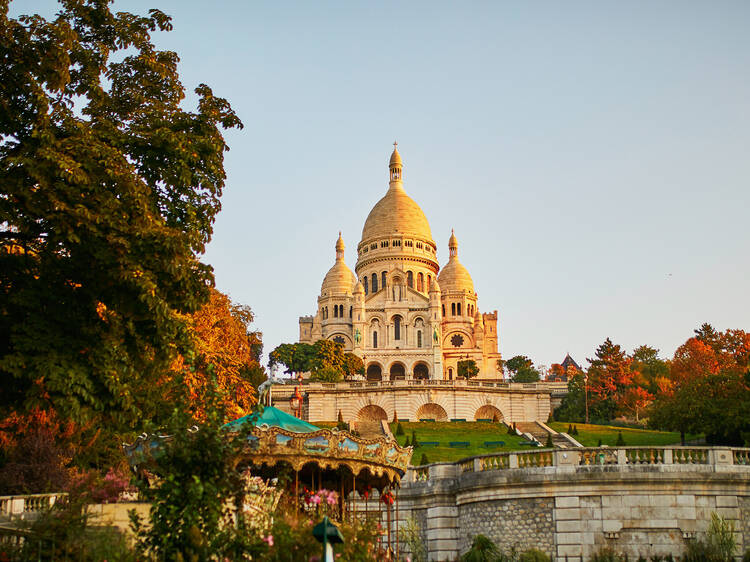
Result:
<svg viewBox="0 0 750 562"><path fill-rule="evenodd" d="M419 465L422 453L427 455L429 462L453 462L474 455L486 455L503 451L526 450L530 447L519 443L525 441L523 437L508 435L507 429L500 423L489 422L401 422L405 435L396 435L396 425L391 423L391 431L403 445L406 438L411 441L412 432L417 434L417 442L437 441L437 447L417 447L414 449L411 463ZM451 441L468 441L465 448L449 446ZM485 441L504 441L503 447L484 447Z"/></svg>

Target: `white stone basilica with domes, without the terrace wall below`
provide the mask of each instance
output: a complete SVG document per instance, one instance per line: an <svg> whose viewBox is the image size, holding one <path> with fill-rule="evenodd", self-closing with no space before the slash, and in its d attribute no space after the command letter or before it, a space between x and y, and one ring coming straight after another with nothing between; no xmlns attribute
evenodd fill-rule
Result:
<svg viewBox="0 0 750 562"><path fill-rule="evenodd" d="M497 310L479 311L453 233L448 263L440 268L427 218L404 191L397 148L389 168L388 191L362 229L356 276L344 262L339 233L318 312L299 320L300 342L343 344L363 359L368 380L452 380L458 362L467 359L476 362L478 377L502 378Z"/></svg>

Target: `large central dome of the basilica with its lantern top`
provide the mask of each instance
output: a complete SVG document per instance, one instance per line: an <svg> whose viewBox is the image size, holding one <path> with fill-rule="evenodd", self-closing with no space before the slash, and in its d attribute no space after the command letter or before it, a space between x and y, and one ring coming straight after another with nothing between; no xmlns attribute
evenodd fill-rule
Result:
<svg viewBox="0 0 750 562"><path fill-rule="evenodd" d="M432 240L430 223L414 200L403 187L403 164L398 149L393 150L390 165L391 181L388 192L367 215L362 229L362 241L372 238L387 238L394 234L410 235L423 240Z"/></svg>

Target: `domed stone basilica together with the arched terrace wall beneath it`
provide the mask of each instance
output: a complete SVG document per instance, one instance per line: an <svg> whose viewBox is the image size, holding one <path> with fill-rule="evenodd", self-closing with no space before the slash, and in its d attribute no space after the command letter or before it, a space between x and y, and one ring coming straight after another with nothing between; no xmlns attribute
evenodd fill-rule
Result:
<svg viewBox="0 0 750 562"><path fill-rule="evenodd" d="M275 386L273 404L300 408L316 421L339 415L345 421L545 421L551 406L545 383L502 380L497 311L480 311L455 234L441 268L430 224L404 191L397 149L388 167L388 191L365 221L354 272L339 234L317 313L299 319L300 342L342 344L362 358L367 380L305 381L301 395L290 385ZM459 362L468 360L479 369L470 380L458 376Z"/></svg>

